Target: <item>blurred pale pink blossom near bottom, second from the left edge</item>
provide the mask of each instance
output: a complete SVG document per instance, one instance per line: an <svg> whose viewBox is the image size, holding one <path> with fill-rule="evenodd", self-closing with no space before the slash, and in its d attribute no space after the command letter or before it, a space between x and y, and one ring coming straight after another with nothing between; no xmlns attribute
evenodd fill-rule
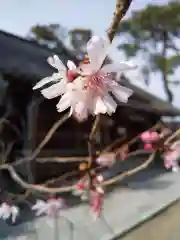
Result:
<svg viewBox="0 0 180 240"><path fill-rule="evenodd" d="M37 200L32 210L36 211L36 215L46 214L49 217L56 217L59 210L65 206L64 199L50 198L47 201Z"/></svg>

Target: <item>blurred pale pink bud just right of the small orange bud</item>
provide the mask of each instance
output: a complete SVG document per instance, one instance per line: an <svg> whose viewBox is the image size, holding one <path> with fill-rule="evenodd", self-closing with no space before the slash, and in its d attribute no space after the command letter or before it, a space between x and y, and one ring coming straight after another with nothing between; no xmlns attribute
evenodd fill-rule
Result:
<svg viewBox="0 0 180 240"><path fill-rule="evenodd" d="M109 167L112 166L116 161L116 154L115 153L104 153L100 155L97 159L96 162L104 167Z"/></svg>

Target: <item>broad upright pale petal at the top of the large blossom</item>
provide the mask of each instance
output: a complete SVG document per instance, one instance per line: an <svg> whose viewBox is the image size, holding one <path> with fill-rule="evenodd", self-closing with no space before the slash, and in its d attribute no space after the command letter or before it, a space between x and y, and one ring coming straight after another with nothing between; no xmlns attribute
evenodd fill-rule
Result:
<svg viewBox="0 0 180 240"><path fill-rule="evenodd" d="M93 36L87 43L87 53L90 59L90 65L94 71L101 68L102 63L107 55L109 47L108 38Z"/></svg>

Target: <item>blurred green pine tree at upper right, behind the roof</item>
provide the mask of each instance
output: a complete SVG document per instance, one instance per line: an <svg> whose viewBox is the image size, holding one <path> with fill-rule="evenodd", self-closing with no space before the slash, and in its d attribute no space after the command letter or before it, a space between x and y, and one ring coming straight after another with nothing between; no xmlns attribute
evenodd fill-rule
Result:
<svg viewBox="0 0 180 240"><path fill-rule="evenodd" d="M117 31L117 36L125 35L127 39L127 43L118 46L127 57L135 57L138 53L146 55L148 63L142 67L146 84L152 71L162 73L164 90L169 101L173 100L169 88L169 83L172 84L173 81L169 81L169 75L174 74L180 66L180 49L175 43L180 37L179 13L180 2L148 5L121 22ZM174 81L174 84L177 83L178 81Z"/></svg>

